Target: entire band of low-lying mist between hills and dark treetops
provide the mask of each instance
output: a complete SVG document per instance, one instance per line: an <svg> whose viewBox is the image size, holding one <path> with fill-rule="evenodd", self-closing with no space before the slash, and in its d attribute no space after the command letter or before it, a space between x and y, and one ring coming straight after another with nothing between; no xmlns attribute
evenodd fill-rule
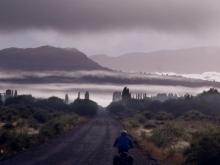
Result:
<svg viewBox="0 0 220 165"><path fill-rule="evenodd" d="M77 98L78 92L84 97L86 91L90 98L102 106L112 101L114 91L128 86L133 94L186 93L196 95L210 87L220 87L219 82L206 81L192 75L174 73L124 73L111 71L45 71L45 72L0 72L0 93L6 89L17 89L19 94L32 94L35 97L69 95L70 100Z"/></svg>

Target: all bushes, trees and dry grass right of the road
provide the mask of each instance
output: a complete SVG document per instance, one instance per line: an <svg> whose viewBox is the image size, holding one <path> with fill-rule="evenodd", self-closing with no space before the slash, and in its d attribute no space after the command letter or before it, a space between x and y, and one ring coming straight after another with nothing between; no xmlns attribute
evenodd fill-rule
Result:
<svg viewBox="0 0 220 165"><path fill-rule="evenodd" d="M108 110L148 156L167 165L220 164L220 93L210 89L165 102L123 100Z"/></svg>

